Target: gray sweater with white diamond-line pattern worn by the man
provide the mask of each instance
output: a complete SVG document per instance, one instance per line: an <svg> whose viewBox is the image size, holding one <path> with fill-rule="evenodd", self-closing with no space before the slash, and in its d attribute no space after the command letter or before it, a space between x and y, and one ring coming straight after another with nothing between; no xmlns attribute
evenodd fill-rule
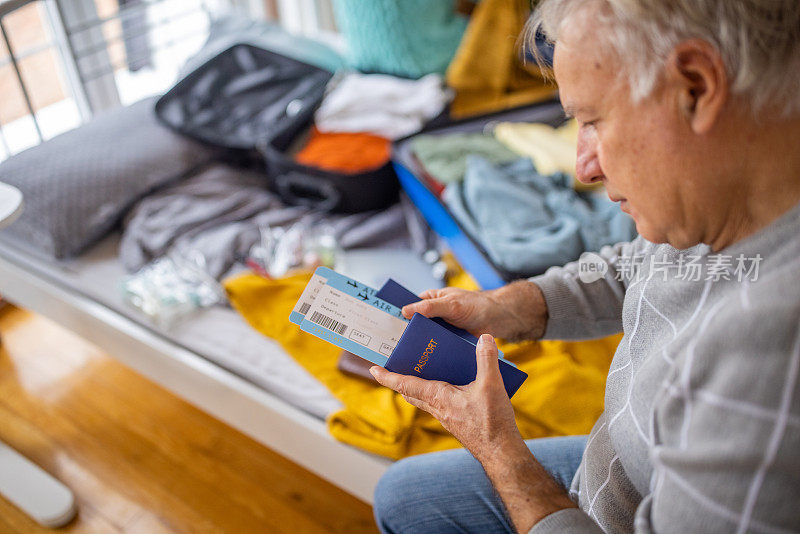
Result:
<svg viewBox="0 0 800 534"><path fill-rule="evenodd" d="M800 205L718 254L640 237L589 260L532 279L545 337L624 337L580 509L531 533L800 531Z"/></svg>

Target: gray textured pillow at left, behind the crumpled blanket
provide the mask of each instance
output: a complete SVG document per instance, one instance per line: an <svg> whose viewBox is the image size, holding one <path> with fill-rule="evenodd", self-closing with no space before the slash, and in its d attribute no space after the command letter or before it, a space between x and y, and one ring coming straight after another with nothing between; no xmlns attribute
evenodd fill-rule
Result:
<svg viewBox="0 0 800 534"><path fill-rule="evenodd" d="M0 236L56 258L75 256L105 237L136 200L217 155L160 125L155 101L99 115L0 164L0 181L25 199L22 216Z"/></svg>

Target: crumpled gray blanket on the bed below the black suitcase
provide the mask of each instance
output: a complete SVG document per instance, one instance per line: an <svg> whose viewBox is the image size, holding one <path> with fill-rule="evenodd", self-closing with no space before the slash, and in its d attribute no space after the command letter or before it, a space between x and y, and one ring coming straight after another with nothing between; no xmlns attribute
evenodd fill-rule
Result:
<svg viewBox="0 0 800 534"><path fill-rule="evenodd" d="M343 248L405 246L400 204L354 215L323 215L284 205L260 174L224 164L142 199L126 217L120 259L132 272L168 252L202 254L215 278L228 273L260 238L260 228L287 226L303 217L330 223Z"/></svg>

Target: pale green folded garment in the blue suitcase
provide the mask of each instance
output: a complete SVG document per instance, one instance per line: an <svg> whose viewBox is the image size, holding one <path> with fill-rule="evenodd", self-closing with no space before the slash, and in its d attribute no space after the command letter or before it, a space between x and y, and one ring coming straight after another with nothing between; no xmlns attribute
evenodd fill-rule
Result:
<svg viewBox="0 0 800 534"><path fill-rule="evenodd" d="M483 133L418 135L411 140L411 150L425 172L443 184L460 182L464 178L470 155L481 156L492 163L519 158L492 135Z"/></svg>

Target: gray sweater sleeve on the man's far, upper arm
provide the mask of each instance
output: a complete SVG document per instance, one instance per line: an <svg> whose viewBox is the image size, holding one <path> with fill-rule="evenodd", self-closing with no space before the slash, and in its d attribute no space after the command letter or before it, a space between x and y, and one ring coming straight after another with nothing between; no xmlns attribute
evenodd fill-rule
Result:
<svg viewBox="0 0 800 534"><path fill-rule="evenodd" d="M625 289L635 272L634 260L648 245L637 237L530 278L547 303L544 339L592 339L622 331ZM586 270L588 265L593 271Z"/></svg>

